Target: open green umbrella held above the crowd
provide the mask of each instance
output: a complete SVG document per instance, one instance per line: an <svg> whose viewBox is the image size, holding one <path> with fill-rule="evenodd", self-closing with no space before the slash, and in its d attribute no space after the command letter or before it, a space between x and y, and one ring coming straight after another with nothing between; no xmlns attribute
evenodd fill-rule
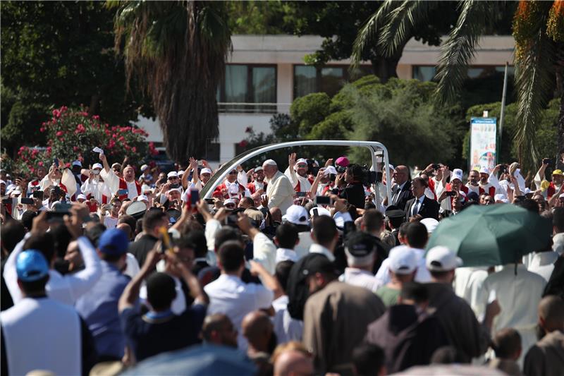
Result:
<svg viewBox="0 0 564 376"><path fill-rule="evenodd" d="M465 267L505 265L549 244L548 219L508 204L472 205L439 222L427 250L444 245Z"/></svg>

